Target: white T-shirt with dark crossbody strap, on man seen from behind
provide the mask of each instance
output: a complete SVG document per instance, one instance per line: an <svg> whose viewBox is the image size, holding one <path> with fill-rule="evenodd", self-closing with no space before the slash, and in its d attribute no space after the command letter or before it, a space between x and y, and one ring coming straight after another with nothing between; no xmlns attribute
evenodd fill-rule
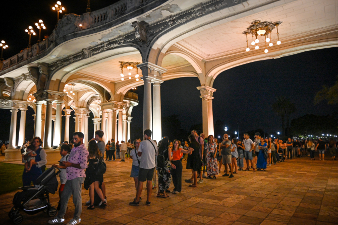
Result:
<svg viewBox="0 0 338 225"><path fill-rule="evenodd" d="M151 143L150 143L151 141ZM140 168L143 169L152 169L156 166L155 157L157 153L157 146L155 141L151 140L142 140L139 147L139 152L142 153L142 159L140 163ZM155 148L154 148L155 146ZM156 152L155 152L156 149Z"/></svg>

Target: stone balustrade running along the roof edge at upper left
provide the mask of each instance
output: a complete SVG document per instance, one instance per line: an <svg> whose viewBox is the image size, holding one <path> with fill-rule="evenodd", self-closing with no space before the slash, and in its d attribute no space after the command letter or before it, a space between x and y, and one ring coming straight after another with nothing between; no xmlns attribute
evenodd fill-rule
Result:
<svg viewBox="0 0 338 225"><path fill-rule="evenodd" d="M122 0L103 9L96 10L91 13L85 13L81 16L75 14L65 14L59 21L59 26L53 30L52 34L49 35L48 38L40 43L34 44L29 49L23 50L23 52L20 52L10 59L5 60L3 65L0 64L0 71L8 69L28 58L43 53L49 46L51 46L52 43L55 42L55 40L63 36L84 29L101 26L102 24L136 11L140 7L148 5L154 1L157 0ZM76 24L75 27L74 24ZM82 25L81 27L79 26L80 24Z"/></svg>

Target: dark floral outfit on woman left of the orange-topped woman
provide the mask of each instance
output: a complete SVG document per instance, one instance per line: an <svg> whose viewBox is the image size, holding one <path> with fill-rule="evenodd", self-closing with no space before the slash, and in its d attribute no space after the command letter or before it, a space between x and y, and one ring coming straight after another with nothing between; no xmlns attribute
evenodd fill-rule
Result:
<svg viewBox="0 0 338 225"><path fill-rule="evenodd" d="M162 154L161 154L162 155ZM172 183L172 174L171 174L171 163L168 160L168 149L163 151L163 156L165 160L165 167L157 169L157 176L158 176L158 190L160 193L165 193L165 191L169 188L170 184Z"/></svg>

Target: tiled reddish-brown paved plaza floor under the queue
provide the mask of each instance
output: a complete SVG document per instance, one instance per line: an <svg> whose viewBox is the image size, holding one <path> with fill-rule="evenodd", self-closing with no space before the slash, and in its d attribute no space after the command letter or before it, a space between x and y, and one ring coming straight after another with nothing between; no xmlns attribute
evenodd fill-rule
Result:
<svg viewBox="0 0 338 225"><path fill-rule="evenodd" d="M88 210L84 203L89 199L89 191L82 190L82 224L338 223L338 162L328 157L325 161L297 158L268 167L265 172L239 171L233 179L219 175L216 180L204 179L197 188L183 183L182 192L170 194L168 198L156 198L154 191L151 206L145 205L145 191L140 206L128 205L136 192L134 181L129 177L131 162L107 162L104 174L107 207ZM185 168L185 161L183 163ZM190 176L191 172L184 169L183 179ZM0 196L2 224L12 223L8 212L14 194ZM58 193L51 195L52 205L56 206L58 200ZM66 221L73 213L70 199ZM46 224L50 218L42 212L23 215L21 224Z"/></svg>

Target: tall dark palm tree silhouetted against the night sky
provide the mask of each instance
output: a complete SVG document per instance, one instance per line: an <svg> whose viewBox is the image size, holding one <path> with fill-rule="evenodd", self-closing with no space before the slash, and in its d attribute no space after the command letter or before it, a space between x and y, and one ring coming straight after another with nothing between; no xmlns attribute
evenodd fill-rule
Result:
<svg viewBox="0 0 338 225"><path fill-rule="evenodd" d="M295 104L284 96L279 96L276 102L272 104L273 111L281 117L281 128L285 135L289 135L290 114L296 111ZM287 128L285 128L285 117L287 117Z"/></svg>

